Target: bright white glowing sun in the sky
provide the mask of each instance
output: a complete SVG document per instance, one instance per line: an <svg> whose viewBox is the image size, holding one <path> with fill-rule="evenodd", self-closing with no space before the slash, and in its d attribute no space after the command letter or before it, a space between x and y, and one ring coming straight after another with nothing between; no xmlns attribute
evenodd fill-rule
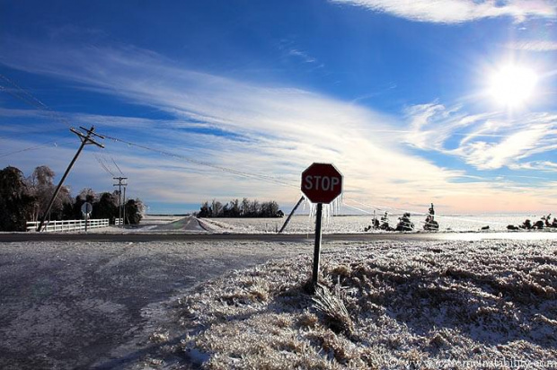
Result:
<svg viewBox="0 0 557 370"><path fill-rule="evenodd" d="M491 75L489 93L500 104L516 108L532 98L538 76L526 66L501 66Z"/></svg>

